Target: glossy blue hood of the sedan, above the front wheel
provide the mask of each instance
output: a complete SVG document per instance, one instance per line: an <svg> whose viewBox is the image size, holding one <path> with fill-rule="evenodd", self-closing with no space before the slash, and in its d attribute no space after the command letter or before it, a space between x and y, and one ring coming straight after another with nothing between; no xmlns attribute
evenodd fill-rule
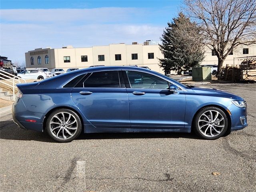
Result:
<svg viewBox="0 0 256 192"><path fill-rule="evenodd" d="M222 90L218 90L215 88L201 88L201 87L194 87L191 88L194 92L196 92L197 94L200 95L208 95L208 96L217 96L217 97L225 97L225 98L232 98L234 100L239 100L239 101L243 101L244 98L232 94L230 92L226 92L226 91L222 91Z"/></svg>

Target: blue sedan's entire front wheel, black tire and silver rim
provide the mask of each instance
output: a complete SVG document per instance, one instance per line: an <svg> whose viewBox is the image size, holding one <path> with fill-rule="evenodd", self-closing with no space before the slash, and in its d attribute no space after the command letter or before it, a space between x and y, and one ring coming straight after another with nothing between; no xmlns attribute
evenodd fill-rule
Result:
<svg viewBox="0 0 256 192"><path fill-rule="evenodd" d="M194 119L195 132L204 139L218 139L228 129L228 118L223 110L217 107L202 108Z"/></svg>

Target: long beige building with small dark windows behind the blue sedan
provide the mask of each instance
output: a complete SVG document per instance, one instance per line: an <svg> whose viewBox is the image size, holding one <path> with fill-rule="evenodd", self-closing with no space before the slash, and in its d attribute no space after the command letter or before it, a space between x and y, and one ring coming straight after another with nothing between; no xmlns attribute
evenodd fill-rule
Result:
<svg viewBox="0 0 256 192"><path fill-rule="evenodd" d="M92 46L89 48L38 48L25 53L26 68L87 68L95 65L105 66L147 66L164 74L159 67L158 58L163 55L158 46L159 42L146 41L143 44L133 42L131 45L110 44L108 46ZM256 45L240 46L236 48L224 61L233 64L234 58L256 56ZM235 59L235 64L241 60ZM212 50L206 50L206 57L202 64L218 64L217 56Z"/></svg>

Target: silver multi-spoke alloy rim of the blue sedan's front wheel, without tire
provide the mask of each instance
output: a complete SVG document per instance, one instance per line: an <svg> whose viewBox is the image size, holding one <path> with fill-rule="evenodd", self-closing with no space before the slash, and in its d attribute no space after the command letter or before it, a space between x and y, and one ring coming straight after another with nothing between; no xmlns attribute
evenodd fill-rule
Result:
<svg viewBox="0 0 256 192"><path fill-rule="evenodd" d="M225 120L222 114L216 110L204 112L198 120L199 131L206 137L218 136L225 127Z"/></svg>

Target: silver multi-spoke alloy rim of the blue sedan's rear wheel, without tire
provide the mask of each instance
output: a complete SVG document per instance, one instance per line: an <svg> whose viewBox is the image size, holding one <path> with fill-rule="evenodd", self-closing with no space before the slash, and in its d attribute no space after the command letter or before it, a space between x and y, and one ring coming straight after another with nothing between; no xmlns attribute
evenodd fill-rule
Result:
<svg viewBox="0 0 256 192"><path fill-rule="evenodd" d="M68 112L57 113L50 120L50 132L60 140L71 138L76 134L77 129L76 118Z"/></svg>

